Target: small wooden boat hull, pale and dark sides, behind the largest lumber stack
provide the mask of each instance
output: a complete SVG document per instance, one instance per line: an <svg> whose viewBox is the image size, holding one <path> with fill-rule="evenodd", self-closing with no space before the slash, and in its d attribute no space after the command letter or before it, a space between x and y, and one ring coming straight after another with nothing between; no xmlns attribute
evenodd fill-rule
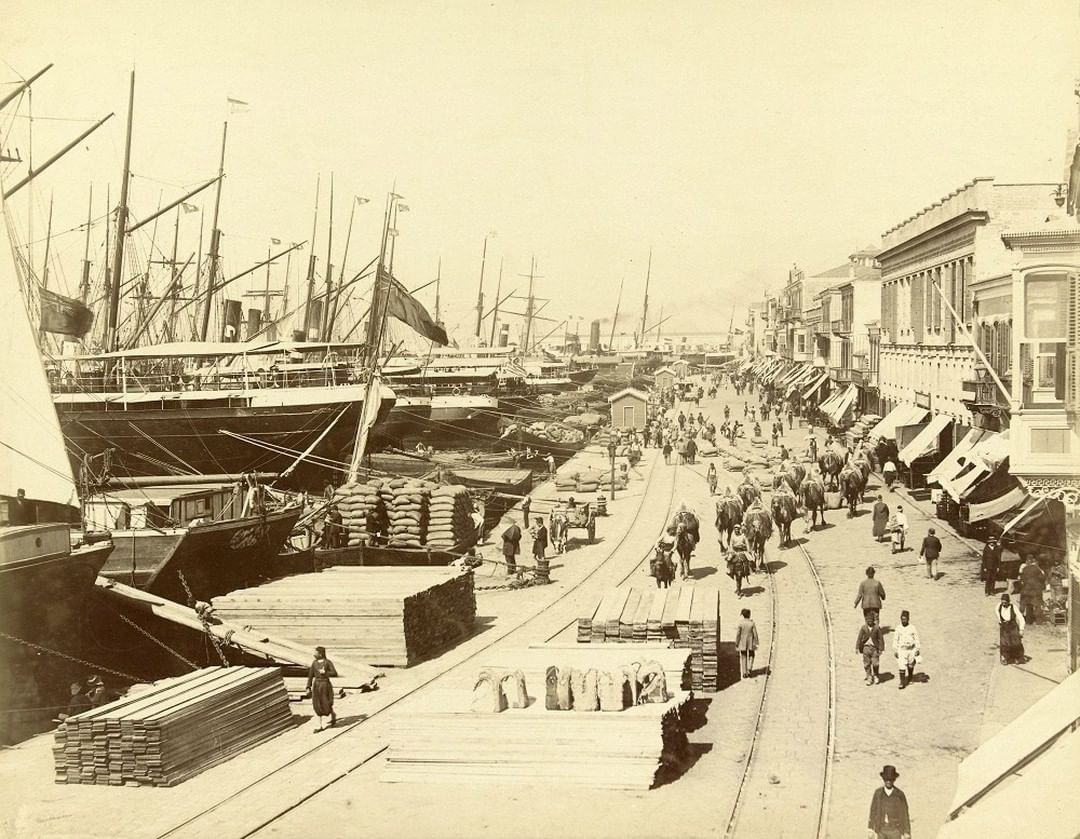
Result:
<svg viewBox="0 0 1080 839"><path fill-rule="evenodd" d="M300 512L297 505L163 531L116 530L117 547L102 573L176 603L188 601L187 588L208 600L274 576L275 557Z"/></svg>

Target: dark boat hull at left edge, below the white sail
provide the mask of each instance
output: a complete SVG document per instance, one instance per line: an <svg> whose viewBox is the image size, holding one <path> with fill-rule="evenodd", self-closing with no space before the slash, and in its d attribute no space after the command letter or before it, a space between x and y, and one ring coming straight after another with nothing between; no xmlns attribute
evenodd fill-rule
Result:
<svg viewBox="0 0 1080 839"><path fill-rule="evenodd" d="M0 531L0 743L46 728L67 707L68 685L86 676L64 657L84 655L85 605L112 543L71 551L68 531Z"/></svg>

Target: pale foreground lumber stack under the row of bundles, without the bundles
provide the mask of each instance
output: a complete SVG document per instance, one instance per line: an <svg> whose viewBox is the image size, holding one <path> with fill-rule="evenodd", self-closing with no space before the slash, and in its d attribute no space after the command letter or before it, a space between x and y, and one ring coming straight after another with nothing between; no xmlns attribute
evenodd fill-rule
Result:
<svg viewBox="0 0 1080 839"><path fill-rule="evenodd" d="M629 654L627 654L629 653ZM666 645L639 647L540 646L490 651L457 688L418 696L391 717L382 780L492 785L565 785L646 790L658 772L687 750L678 689L688 651ZM656 661L667 676L666 702L622 711L579 713L545 706L548 667L617 671ZM472 709L477 669L521 671L525 707L500 713Z"/></svg>

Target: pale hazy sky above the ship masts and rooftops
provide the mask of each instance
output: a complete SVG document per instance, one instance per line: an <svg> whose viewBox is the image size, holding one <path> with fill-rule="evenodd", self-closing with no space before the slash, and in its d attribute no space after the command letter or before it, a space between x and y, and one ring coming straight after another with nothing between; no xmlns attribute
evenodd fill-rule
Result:
<svg viewBox="0 0 1080 839"><path fill-rule="evenodd" d="M610 319L624 280L618 329L632 331L651 246L665 334L725 329L793 262L838 265L974 176L1061 180L1077 120L1071 1L5 0L3 17L0 92L56 65L33 87L36 161L85 125L70 120L117 112L15 200L29 238L44 236L50 193L54 231L85 219L91 182L95 216L107 185L116 202L134 66L136 218L216 174L226 97L244 99L251 110L229 118L226 274L264 258L271 236L310 236L320 174L321 271L332 171L333 262L351 197L370 199L357 270L396 182L410 212L395 273L419 286L442 257L459 337L489 231L489 302L500 259L504 293L524 293L535 255L544 314ZM3 125L25 157L27 121ZM195 203L208 225L212 193ZM174 218L158 230L166 252ZM183 261L199 215L181 226ZM95 248L104 239L95 226ZM78 230L54 239L50 270L69 288L82 252Z"/></svg>

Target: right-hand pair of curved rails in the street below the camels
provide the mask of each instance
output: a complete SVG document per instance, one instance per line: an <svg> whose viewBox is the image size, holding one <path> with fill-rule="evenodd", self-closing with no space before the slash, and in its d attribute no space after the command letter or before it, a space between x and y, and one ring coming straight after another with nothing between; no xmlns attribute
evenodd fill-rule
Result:
<svg viewBox="0 0 1080 839"><path fill-rule="evenodd" d="M802 557L806 568L808 569L810 577L813 580L814 588L818 593L818 603L821 606L821 619L824 624L825 630L825 640L826 640L826 659L827 659L827 680L828 688L826 693L826 730L825 730L825 747L824 754L821 756L820 766L818 767L807 767L805 773L815 772L820 776L820 788L819 795L815 798L814 807L814 831L813 835L821 839L825 837L828 829L828 811L829 801L832 797L832 785L833 785L833 759L836 749L836 645L833 632L833 621L828 612L828 604L825 598L825 588L822 584L821 577L818 573L818 569L814 566L813 557L810 556L809 552L802 546L799 541L795 542L795 550L798 551ZM788 554L789 555L789 554ZM747 799L748 790L752 786L752 779L756 779L759 783L759 773L755 773L757 767L758 758L758 746L761 739L761 734L765 731L767 721L769 720L769 694L770 688L773 681L773 664L777 659L777 648L778 642L781 639L780 634L780 623L781 623L781 612L783 608L783 603L781 600L780 591L777 585L777 580L773 573L769 574L769 593L770 601L772 605L772 613L770 619L770 641L769 641L769 655L767 660L767 668L765 672L765 684L761 686L761 694L757 709L757 716L754 722L754 731L751 737L750 745L746 750L746 759L743 763L743 771L741 773L739 785L735 790L735 798L731 806L731 812L728 816L727 824L725 826L724 836L734 837L737 835L737 829L740 823L740 817L742 815L744 803ZM772 783L770 781L770 783Z"/></svg>

